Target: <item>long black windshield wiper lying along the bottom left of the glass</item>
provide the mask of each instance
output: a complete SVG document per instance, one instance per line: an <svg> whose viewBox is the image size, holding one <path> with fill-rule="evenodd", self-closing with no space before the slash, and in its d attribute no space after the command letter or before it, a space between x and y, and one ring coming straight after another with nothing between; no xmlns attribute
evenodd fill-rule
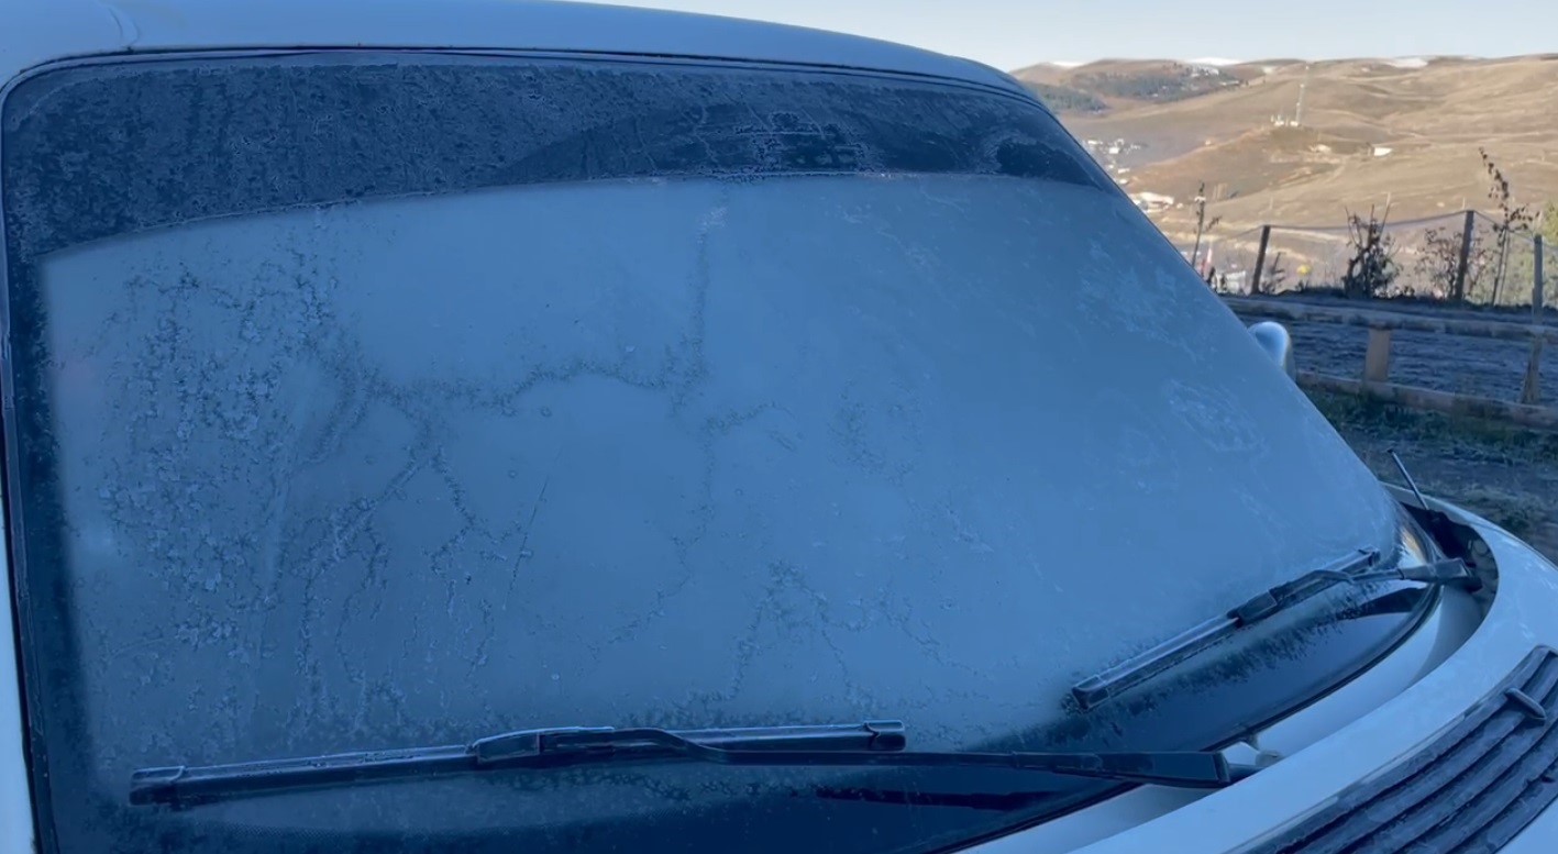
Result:
<svg viewBox="0 0 1558 854"><path fill-rule="evenodd" d="M129 803L193 806L291 789L477 773L548 770L587 764L690 760L759 767L913 768L991 767L1120 782L1218 789L1251 770L1220 753L915 753L904 725L765 726L751 729L527 729L469 745L341 753L304 759L143 768L131 776Z"/></svg>

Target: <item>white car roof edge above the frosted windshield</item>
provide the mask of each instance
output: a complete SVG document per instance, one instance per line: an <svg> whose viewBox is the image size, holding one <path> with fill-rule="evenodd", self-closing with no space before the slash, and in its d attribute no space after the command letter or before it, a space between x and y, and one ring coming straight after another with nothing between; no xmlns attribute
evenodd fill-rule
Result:
<svg viewBox="0 0 1558 854"><path fill-rule="evenodd" d="M996 69L891 42L559 0L5 0L0 81L62 58L164 50L446 48L832 65L1022 92Z"/></svg>

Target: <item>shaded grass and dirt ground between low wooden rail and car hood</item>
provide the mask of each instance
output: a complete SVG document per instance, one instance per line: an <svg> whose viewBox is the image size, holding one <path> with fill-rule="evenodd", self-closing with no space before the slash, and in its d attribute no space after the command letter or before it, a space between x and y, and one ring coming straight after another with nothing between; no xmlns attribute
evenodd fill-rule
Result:
<svg viewBox="0 0 1558 854"><path fill-rule="evenodd" d="M1348 396L1310 399L1374 472L1477 513L1558 561L1558 433L1415 413Z"/></svg>

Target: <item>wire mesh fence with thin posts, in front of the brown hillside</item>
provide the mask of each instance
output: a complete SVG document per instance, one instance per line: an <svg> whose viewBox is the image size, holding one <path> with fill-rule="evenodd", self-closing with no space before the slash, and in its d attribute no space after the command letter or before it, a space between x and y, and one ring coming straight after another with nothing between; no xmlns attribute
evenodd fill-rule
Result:
<svg viewBox="0 0 1558 854"><path fill-rule="evenodd" d="M1218 291L1278 295L1341 290L1359 243L1351 226L1271 224L1206 235L1198 251L1181 251ZM1500 231L1482 212L1387 223L1382 248L1391 274L1366 296L1500 307L1558 304L1558 246Z"/></svg>

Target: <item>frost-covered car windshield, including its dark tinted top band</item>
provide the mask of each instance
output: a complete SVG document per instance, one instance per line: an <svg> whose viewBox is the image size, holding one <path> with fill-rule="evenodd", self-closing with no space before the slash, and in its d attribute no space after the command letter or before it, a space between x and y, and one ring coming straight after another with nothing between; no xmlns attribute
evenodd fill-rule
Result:
<svg viewBox="0 0 1558 854"><path fill-rule="evenodd" d="M36 76L5 134L12 542L65 851L932 851L1097 782L868 775L1033 795L994 815L798 795L849 770L189 812L129 812L128 782L570 725L1200 750L1401 622L1234 656L1193 714L1184 679L1066 704L1228 603L1393 549L1396 516L1033 101L160 59Z"/></svg>

